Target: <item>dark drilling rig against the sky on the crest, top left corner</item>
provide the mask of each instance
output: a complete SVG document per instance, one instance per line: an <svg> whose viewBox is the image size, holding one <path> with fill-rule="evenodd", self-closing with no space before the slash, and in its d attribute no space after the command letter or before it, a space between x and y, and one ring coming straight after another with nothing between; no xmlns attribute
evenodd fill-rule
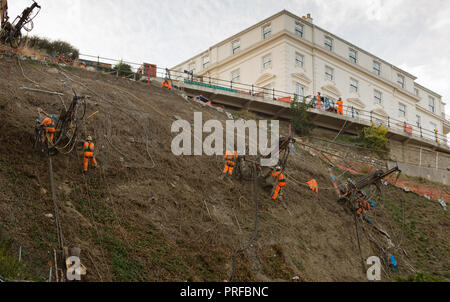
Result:
<svg viewBox="0 0 450 302"><path fill-rule="evenodd" d="M37 11L33 14L33 11ZM20 45L22 37L21 30L30 32L33 27L33 19L37 16L41 7L33 0L33 4L23 10L22 14L17 16L13 22L9 22L8 0L0 0L0 42L8 43L13 48Z"/></svg>

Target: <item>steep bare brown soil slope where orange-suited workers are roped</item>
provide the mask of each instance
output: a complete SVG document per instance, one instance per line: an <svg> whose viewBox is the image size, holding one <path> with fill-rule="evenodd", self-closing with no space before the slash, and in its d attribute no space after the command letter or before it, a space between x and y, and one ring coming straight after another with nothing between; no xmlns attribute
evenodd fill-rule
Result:
<svg viewBox="0 0 450 302"><path fill-rule="evenodd" d="M60 152L53 166L64 243L81 248L85 280L229 279L233 252L254 231L252 182L219 179L220 156L171 151L172 122L193 123L194 111L204 120L224 122L224 113L154 85L3 58L0 226L24 247L33 274L47 274L58 246L54 217L46 216L54 214L47 160L33 153L33 127L38 108L59 114L62 102L71 101L72 88L90 96L82 134L94 137L100 168L90 166L83 176L79 148ZM336 203L328 167L318 156L298 152L290 155L282 200L258 190L258 235L237 257L236 280L367 280L353 216ZM312 178L319 183L318 195L305 185ZM412 275L410 266L448 280L449 220L439 204L388 186L373 219L401 246L396 251L400 271L385 268L383 280ZM370 227L358 224L363 258L382 257L366 235L373 233Z"/></svg>

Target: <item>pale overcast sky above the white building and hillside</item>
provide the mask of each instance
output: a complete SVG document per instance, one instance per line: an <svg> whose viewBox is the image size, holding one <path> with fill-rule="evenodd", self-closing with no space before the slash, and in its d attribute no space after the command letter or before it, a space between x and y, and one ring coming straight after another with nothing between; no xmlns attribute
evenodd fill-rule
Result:
<svg viewBox="0 0 450 302"><path fill-rule="evenodd" d="M13 18L31 0L10 0ZM283 10L418 77L443 96L450 115L450 1L447 0L39 0L32 34L81 53L174 66Z"/></svg>

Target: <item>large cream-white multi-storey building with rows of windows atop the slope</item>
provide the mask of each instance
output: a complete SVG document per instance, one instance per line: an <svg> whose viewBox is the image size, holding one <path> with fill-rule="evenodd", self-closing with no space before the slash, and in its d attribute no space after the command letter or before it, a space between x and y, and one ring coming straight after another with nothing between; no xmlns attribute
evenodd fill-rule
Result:
<svg viewBox="0 0 450 302"><path fill-rule="evenodd" d="M440 134L450 131L439 94L416 77L283 10L172 69L300 96L315 95Z"/></svg>

